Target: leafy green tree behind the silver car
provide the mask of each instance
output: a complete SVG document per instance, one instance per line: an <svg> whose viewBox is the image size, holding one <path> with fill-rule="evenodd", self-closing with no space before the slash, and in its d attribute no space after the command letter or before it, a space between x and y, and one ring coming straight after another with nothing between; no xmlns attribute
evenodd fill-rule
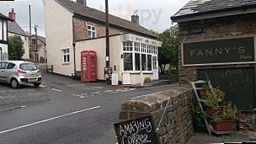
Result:
<svg viewBox="0 0 256 144"><path fill-rule="evenodd" d="M22 60L24 55L24 42L20 36L14 35L8 37L8 57L9 60Z"/></svg>

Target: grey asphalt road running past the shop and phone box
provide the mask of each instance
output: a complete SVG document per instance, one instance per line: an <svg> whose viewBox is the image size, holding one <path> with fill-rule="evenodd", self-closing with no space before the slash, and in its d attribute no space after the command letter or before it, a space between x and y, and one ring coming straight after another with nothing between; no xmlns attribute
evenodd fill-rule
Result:
<svg viewBox="0 0 256 144"><path fill-rule="evenodd" d="M40 88L0 85L5 93L42 94L49 101L16 105L0 112L1 144L83 143L115 144L113 124L121 103L178 87L116 88L104 83L81 83L69 77L43 73ZM20 106L20 107L17 107Z"/></svg>

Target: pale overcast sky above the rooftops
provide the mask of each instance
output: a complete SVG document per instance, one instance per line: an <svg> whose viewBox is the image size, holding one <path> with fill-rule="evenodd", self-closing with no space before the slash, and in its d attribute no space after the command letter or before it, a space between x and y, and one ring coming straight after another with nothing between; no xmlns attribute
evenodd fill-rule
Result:
<svg viewBox="0 0 256 144"><path fill-rule="evenodd" d="M87 0L88 7L102 11L104 11L104 2L104 0ZM177 13L188 2L189 0L109 0L109 13L127 20L131 20L131 14L137 13L142 26L163 32L172 25L170 16ZM42 0L0 1L0 13L8 16L11 8L14 8L17 23L22 29L29 30L29 5L31 5L32 25L38 25L39 35L45 36ZM34 29L32 32L35 33Z"/></svg>

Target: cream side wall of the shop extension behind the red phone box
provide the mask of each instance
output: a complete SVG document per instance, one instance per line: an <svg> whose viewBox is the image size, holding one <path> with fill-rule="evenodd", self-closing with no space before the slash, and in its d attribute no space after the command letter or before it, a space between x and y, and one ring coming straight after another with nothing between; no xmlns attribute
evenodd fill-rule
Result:
<svg viewBox="0 0 256 144"><path fill-rule="evenodd" d="M104 80L104 67L105 67L105 38L84 40L76 43L76 64L77 71L81 71L81 51L96 51L97 52L97 71L98 79ZM120 35L111 36L109 38L109 51L110 51L110 67L113 67L113 72L118 73L120 77L120 49L121 40ZM116 66L116 71L114 71Z"/></svg>

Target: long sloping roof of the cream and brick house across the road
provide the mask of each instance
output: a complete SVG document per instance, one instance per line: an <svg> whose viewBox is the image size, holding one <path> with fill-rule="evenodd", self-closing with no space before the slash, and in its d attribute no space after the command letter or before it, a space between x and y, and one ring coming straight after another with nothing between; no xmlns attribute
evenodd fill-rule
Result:
<svg viewBox="0 0 256 144"><path fill-rule="evenodd" d="M55 0L55 1L57 3L60 3L62 7L66 8L71 13L75 13L77 15L81 15L89 19L95 19L101 22L105 22L105 13L97 9L83 7L81 4L72 2L70 0ZM131 21L121 19L119 17L113 16L110 14L109 14L109 24L118 26L122 29L129 29L130 31L134 31L136 33L141 33L144 35L156 37L156 35L152 34L152 32L150 32L148 29L143 28L140 24L135 24Z"/></svg>

